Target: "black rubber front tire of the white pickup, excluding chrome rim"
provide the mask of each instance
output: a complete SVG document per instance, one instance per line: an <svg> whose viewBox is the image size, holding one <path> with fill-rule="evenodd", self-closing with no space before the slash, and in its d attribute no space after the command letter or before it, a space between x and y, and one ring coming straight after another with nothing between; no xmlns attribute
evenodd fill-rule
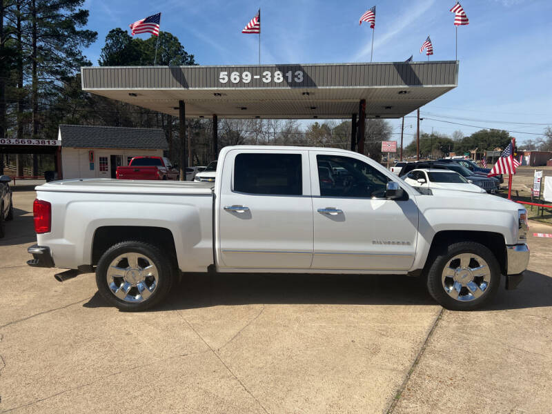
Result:
<svg viewBox="0 0 552 414"><path fill-rule="evenodd" d="M481 257L486 262L487 266L489 266L490 270L489 282L482 295L467 302L461 302L458 299L453 299L453 297L446 293L443 286L444 282L442 281L445 266L449 265L450 261L455 256L463 253L469 253ZM426 280L429 294L441 306L449 309L450 311L471 311L473 309L480 308L481 306L491 302L498 291L500 286L500 266L491 250L482 244L476 242L454 243L444 248L442 252L434 255L430 258L430 260L432 263L428 268Z"/></svg>

